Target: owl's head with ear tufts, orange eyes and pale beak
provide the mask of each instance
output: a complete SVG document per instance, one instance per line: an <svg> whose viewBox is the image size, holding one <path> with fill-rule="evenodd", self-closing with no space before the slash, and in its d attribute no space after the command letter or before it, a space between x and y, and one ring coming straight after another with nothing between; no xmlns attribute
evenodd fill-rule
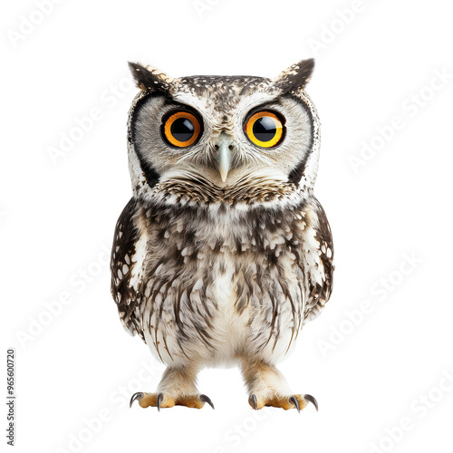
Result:
<svg viewBox="0 0 453 453"><path fill-rule="evenodd" d="M313 60L275 79L171 78L130 63L140 92L128 147L136 197L229 204L308 194L319 159L319 120L304 91Z"/></svg>

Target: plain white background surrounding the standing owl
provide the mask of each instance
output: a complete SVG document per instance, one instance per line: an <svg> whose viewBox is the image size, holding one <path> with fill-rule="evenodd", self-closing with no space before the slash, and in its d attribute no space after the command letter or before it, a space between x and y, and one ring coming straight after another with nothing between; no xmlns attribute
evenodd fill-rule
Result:
<svg viewBox="0 0 453 453"><path fill-rule="evenodd" d="M448 2L63 0L45 15L37 3L4 2L0 14L1 318L3 353L16 349L16 451L451 451ZM311 56L307 92L323 122L315 194L337 270L331 302L281 369L320 411L255 412L235 369L201 373L214 411L130 410L163 366L123 331L106 265L130 198L126 62L273 77ZM92 109L91 130L52 159Z"/></svg>

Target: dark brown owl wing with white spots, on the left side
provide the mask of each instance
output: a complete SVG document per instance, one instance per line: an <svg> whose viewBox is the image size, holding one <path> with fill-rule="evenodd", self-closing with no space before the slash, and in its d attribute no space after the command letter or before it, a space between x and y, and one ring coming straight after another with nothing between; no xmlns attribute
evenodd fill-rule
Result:
<svg viewBox="0 0 453 453"><path fill-rule="evenodd" d="M111 295L124 328L131 335L139 333L144 340L135 310L142 299L147 253L146 230L140 228L141 219L141 207L135 198L131 198L115 227L111 249Z"/></svg>

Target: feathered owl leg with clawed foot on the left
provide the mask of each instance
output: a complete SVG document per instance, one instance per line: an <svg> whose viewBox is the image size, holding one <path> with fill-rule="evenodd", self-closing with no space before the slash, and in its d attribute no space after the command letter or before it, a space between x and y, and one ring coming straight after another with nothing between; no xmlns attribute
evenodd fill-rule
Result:
<svg viewBox="0 0 453 453"><path fill-rule="evenodd" d="M135 400L142 408L153 406L158 410L173 406L201 409L206 402L214 409L212 401L198 392L197 370L191 367L167 368L157 393L135 393L130 399L130 406Z"/></svg>

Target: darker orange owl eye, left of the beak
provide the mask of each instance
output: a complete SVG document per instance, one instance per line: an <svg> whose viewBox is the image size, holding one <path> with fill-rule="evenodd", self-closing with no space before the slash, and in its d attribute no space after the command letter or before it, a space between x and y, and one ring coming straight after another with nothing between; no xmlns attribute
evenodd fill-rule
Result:
<svg viewBox="0 0 453 453"><path fill-rule="evenodd" d="M163 118L161 130L169 145L185 148L198 140L201 124L190 111L172 111Z"/></svg>

